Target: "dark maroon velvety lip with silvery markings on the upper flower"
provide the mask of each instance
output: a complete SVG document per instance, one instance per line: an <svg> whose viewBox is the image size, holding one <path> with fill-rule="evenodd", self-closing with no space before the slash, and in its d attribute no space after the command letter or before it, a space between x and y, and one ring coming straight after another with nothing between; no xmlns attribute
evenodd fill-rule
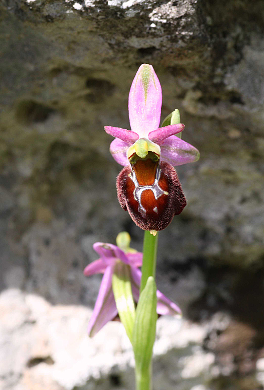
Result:
<svg viewBox="0 0 264 390"><path fill-rule="evenodd" d="M146 159L132 169L125 167L117 176L116 187L121 207L143 230L165 229L186 206L178 175L167 162Z"/></svg>

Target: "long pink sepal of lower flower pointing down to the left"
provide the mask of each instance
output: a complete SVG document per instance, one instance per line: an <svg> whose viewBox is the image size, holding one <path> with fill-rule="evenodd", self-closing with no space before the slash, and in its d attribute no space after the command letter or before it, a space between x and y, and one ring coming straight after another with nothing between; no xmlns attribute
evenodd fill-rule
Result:
<svg viewBox="0 0 264 390"><path fill-rule="evenodd" d="M113 268L107 267L97 300L94 306L94 312L88 324L88 334L93 337L100 329L117 315L117 309L112 290Z"/></svg>

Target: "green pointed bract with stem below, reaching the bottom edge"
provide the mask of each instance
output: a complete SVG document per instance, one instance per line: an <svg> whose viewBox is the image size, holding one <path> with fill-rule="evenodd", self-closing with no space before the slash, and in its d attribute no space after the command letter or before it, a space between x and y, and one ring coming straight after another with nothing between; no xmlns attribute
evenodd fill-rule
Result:
<svg viewBox="0 0 264 390"><path fill-rule="evenodd" d="M137 390L151 390L151 360L156 335L157 289L152 276L141 292L132 332Z"/></svg>

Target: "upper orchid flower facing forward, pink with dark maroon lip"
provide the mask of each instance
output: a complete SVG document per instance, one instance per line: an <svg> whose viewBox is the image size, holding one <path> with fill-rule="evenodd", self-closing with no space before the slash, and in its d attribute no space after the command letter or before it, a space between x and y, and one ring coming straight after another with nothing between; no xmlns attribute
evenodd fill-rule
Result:
<svg viewBox="0 0 264 390"><path fill-rule="evenodd" d="M105 126L115 137L110 146L113 158L125 168L117 176L117 195L142 229L165 229L182 212L186 198L173 166L199 159L199 151L175 134L182 123L158 127L162 91L149 64L143 64L133 79L129 94L131 130Z"/></svg>

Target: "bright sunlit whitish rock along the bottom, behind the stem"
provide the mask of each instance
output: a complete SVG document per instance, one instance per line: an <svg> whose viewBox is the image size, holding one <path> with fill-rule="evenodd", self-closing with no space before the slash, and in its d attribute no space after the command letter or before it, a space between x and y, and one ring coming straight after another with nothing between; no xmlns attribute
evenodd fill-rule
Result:
<svg viewBox="0 0 264 390"><path fill-rule="evenodd" d="M2 292L1 389L134 389L133 353L124 328L120 323L109 323L90 339L85 331L90 315L91 310L82 306L52 306L38 295L16 289ZM222 335L227 332L228 337L229 330L233 339L230 329L230 319L223 313L203 326L186 320L181 324L169 317L159 319L154 390L172 390L175 386L179 390L194 390L195 386L204 389L205 381L215 380L225 370L233 372L235 363L230 366L228 358L217 362L212 351L202 348L213 331ZM250 331L245 335L250 337ZM219 334L211 338L213 347L207 341L209 348L221 348ZM264 370L262 361L258 360L260 373Z"/></svg>

